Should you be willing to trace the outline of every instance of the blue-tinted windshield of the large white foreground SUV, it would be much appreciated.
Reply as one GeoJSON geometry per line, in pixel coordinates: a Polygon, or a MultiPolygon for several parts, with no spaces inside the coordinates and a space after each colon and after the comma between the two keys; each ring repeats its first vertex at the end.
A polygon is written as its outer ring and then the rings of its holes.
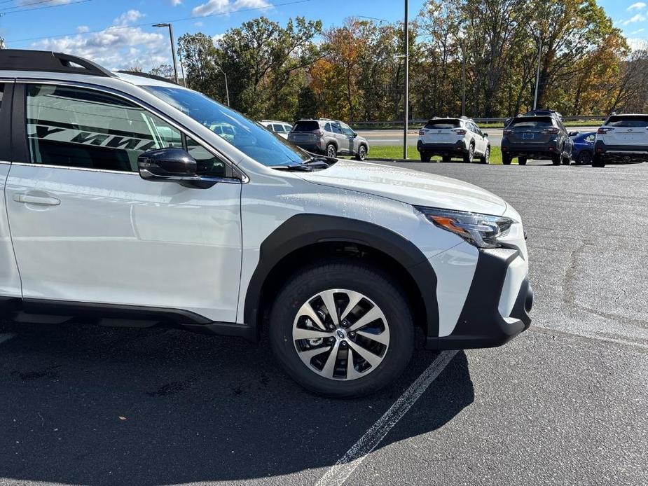
{"type": "Polygon", "coordinates": [[[172,86],[142,86],[156,97],[179,109],[209,130],[218,134],[228,144],[268,167],[297,165],[310,155],[301,148],[268,132],[263,126],[245,118],[198,92],[172,86]]]}

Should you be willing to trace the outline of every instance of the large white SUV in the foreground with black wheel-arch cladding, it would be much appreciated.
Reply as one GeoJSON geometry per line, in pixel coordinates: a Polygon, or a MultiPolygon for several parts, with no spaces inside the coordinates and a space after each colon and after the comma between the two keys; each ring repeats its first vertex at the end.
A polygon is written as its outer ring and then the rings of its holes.
{"type": "Polygon", "coordinates": [[[291,377],[336,397],[398,377],[417,326],[460,349],[530,325],[524,231],[502,199],[309,155],[170,82],[1,50],[0,161],[7,312],[263,329],[291,377]]]}

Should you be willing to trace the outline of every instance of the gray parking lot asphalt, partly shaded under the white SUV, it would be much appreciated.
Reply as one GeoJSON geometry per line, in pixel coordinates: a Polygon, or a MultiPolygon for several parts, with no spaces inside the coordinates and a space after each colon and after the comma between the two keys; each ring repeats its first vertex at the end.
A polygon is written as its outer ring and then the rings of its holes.
{"type": "Polygon", "coordinates": [[[518,209],[529,331],[457,352],[415,401],[399,397],[444,356],[420,346],[388,389],[335,401],[265,341],[5,321],[0,485],[647,484],[648,165],[394,165],[518,209]],[[373,450],[337,464],[399,403],[373,450]]]}

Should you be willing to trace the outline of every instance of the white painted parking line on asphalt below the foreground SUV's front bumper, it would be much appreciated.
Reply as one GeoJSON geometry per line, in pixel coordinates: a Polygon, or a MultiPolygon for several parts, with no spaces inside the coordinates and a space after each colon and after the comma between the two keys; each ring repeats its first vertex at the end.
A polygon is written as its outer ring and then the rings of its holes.
{"type": "Polygon", "coordinates": [[[336,464],[333,464],[329,471],[317,481],[316,486],[341,485],[349,478],[356,468],[364,461],[364,458],[375,449],[380,440],[385,438],[387,433],[403,418],[407,411],[416,403],[420,396],[427,390],[430,384],[436,380],[448,363],[457,354],[457,351],[443,351],[439,354],[430,366],[413,382],[404,393],[399,396],[394,405],[385,412],[375,424],[371,426],[364,436],[359,438],[347,453],[340,457],[336,464]]]}

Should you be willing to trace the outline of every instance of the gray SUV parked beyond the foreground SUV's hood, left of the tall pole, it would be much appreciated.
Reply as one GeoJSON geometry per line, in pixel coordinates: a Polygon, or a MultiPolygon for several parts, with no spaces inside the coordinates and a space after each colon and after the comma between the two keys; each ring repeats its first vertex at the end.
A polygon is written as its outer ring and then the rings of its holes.
{"type": "Polygon", "coordinates": [[[329,118],[299,120],[288,134],[288,141],[305,151],[333,158],[354,155],[357,160],[364,160],[369,152],[365,138],[359,137],[349,125],[329,118]]]}

